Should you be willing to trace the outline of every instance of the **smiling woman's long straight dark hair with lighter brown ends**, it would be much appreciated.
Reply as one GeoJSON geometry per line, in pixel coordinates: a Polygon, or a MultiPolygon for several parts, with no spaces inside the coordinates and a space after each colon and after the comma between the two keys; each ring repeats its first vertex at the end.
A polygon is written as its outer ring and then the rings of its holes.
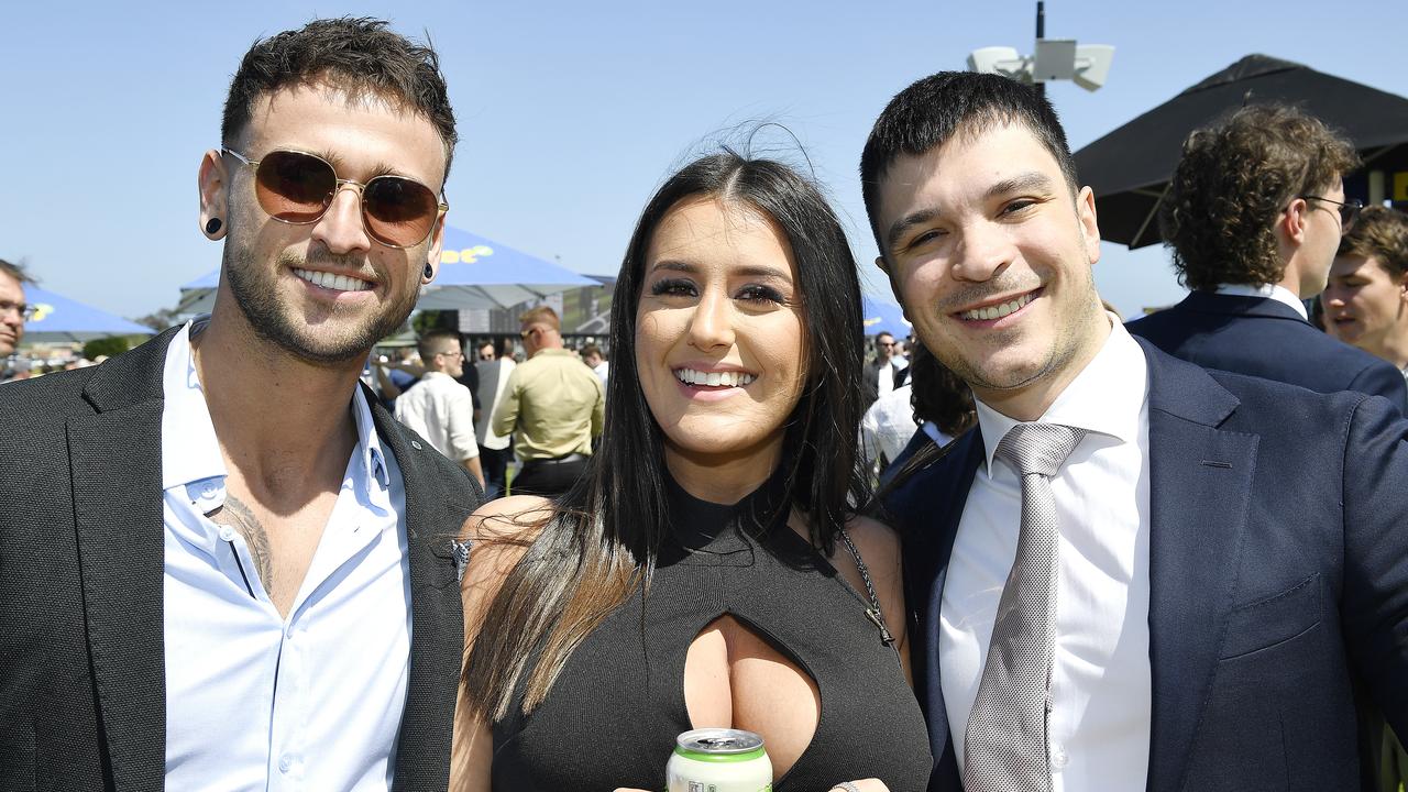
{"type": "Polygon", "coordinates": [[[784,503],[805,514],[812,544],[828,555],[836,531],[869,505],[857,466],[860,283],[841,223],[817,186],[787,165],[731,151],[691,162],[655,193],[631,237],[611,302],[605,431],[479,624],[463,672],[470,716],[503,719],[525,671],[522,712],[532,712],[583,638],[655,571],[670,524],[667,474],[636,372],[636,307],[656,227],[694,197],[772,217],[797,262],[808,366],[783,441],[784,503]]]}

